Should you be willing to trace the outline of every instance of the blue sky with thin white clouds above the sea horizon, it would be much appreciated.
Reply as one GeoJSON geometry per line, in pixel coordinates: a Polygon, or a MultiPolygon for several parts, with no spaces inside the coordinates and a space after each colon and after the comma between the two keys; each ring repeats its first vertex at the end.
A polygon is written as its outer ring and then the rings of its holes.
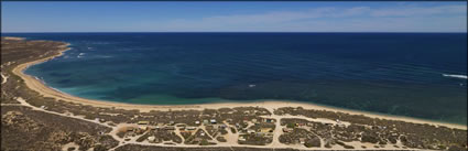
{"type": "Polygon", "coordinates": [[[467,2],[1,2],[7,32],[467,32],[467,2]]]}

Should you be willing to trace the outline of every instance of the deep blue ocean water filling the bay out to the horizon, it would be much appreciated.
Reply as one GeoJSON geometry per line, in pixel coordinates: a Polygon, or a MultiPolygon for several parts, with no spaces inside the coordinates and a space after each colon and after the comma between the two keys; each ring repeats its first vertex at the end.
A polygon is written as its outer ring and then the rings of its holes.
{"type": "Polygon", "coordinates": [[[72,43],[26,74],[75,96],[294,100],[467,123],[466,33],[22,33],[72,43]],[[445,76],[444,76],[445,74],[445,76]]]}

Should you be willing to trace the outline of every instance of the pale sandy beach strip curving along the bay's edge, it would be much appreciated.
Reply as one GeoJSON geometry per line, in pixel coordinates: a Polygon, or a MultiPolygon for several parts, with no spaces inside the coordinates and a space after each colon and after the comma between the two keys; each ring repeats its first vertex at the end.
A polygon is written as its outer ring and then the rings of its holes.
{"type": "Polygon", "coordinates": [[[363,115],[366,117],[370,118],[379,118],[379,119],[388,119],[388,120],[399,120],[399,121],[405,121],[405,122],[413,122],[413,123],[428,123],[434,126],[444,126],[448,128],[456,128],[456,129],[462,129],[467,130],[467,126],[458,125],[458,123],[448,123],[448,122],[442,122],[442,121],[432,121],[426,119],[418,119],[418,118],[412,118],[412,117],[403,117],[403,116],[393,116],[393,115],[385,115],[380,112],[370,112],[370,111],[361,111],[361,110],[353,110],[353,109],[345,109],[345,108],[338,108],[338,107],[330,107],[330,106],[324,106],[324,105],[317,105],[317,104],[307,104],[307,103],[297,103],[297,101],[284,101],[284,100],[270,100],[266,99],[264,101],[253,101],[253,103],[209,103],[209,104],[194,104],[194,105],[141,105],[141,104],[127,104],[127,103],[116,103],[116,101],[108,101],[108,100],[95,100],[95,99],[85,99],[76,96],[72,96],[69,94],[65,94],[62,91],[58,91],[52,87],[48,87],[44,85],[41,80],[37,80],[34,78],[34,76],[24,74],[23,72],[32,66],[36,65],[43,62],[47,62],[50,60],[53,60],[55,57],[62,56],[64,52],[70,50],[69,43],[66,43],[62,46],[59,46],[58,54],[52,55],[45,58],[35,60],[31,62],[26,62],[23,64],[20,64],[15,66],[12,69],[12,73],[18,75],[24,80],[24,84],[31,88],[34,91],[40,93],[44,97],[52,97],[55,99],[62,99],[64,101],[69,103],[77,103],[81,105],[90,105],[94,107],[105,107],[105,108],[118,108],[118,109],[127,109],[127,110],[134,110],[138,109],[142,112],[148,112],[150,110],[203,110],[205,108],[209,109],[219,109],[219,108],[232,108],[232,107],[262,107],[266,108],[268,110],[272,111],[276,108],[281,107],[303,107],[304,109],[315,109],[315,110],[327,110],[327,111],[339,111],[345,112],[349,115],[363,115]]]}

